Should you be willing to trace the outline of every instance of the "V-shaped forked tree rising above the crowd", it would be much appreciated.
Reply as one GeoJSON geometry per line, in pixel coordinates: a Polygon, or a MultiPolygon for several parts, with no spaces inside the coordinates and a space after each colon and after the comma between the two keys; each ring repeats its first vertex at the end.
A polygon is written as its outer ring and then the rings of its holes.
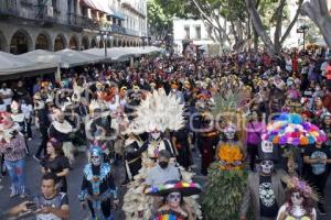
{"type": "MultiPolygon", "coordinates": [[[[286,4],[287,4],[286,0],[257,0],[257,1],[245,0],[245,1],[246,1],[247,10],[252,18],[254,30],[256,31],[257,35],[261,38],[263,43],[267,48],[267,52],[269,54],[278,54],[282,47],[285,40],[287,38],[295,23],[298,20],[303,0],[298,0],[296,14],[290,21],[289,26],[287,28],[287,30],[282,35],[281,33],[282,33],[282,24],[284,24],[284,14],[286,14],[285,12],[286,12],[286,4]],[[271,16],[271,21],[275,21],[275,28],[276,28],[274,42],[273,42],[266,31],[266,26],[263,23],[261,15],[259,14],[257,7],[259,3],[268,4],[268,3],[276,3],[276,2],[277,2],[277,8],[275,10],[275,13],[271,16]]],[[[269,25],[271,25],[271,23],[269,23],[269,25]]]]}

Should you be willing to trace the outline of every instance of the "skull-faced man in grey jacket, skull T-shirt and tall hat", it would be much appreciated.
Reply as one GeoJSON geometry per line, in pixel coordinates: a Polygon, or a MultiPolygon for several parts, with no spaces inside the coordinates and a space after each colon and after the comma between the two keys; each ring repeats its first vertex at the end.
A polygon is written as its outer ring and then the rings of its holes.
{"type": "Polygon", "coordinates": [[[285,201],[282,178],[285,174],[274,170],[276,148],[273,145],[263,145],[259,148],[258,173],[250,173],[247,179],[247,187],[242,201],[239,219],[247,220],[247,211],[252,206],[255,220],[274,220],[277,217],[278,208],[285,201]]]}

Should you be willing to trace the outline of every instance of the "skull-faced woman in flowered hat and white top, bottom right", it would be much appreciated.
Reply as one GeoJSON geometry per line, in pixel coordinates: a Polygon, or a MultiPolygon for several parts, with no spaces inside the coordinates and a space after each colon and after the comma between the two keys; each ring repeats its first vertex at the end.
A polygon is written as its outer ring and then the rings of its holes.
{"type": "Polygon", "coordinates": [[[318,196],[312,188],[298,177],[287,180],[287,199],[278,210],[277,220],[316,220],[317,213],[313,208],[313,200],[318,196]]]}

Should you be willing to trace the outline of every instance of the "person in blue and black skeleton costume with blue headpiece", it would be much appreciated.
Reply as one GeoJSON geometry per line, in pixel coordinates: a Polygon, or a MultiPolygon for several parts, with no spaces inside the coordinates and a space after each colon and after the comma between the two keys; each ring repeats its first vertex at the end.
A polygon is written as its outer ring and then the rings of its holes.
{"type": "Polygon", "coordinates": [[[84,167],[84,177],[79,194],[83,208],[90,210],[92,220],[111,219],[111,195],[114,204],[118,204],[117,188],[111,175],[111,167],[103,163],[103,150],[93,146],[89,150],[90,163],[84,167]]]}

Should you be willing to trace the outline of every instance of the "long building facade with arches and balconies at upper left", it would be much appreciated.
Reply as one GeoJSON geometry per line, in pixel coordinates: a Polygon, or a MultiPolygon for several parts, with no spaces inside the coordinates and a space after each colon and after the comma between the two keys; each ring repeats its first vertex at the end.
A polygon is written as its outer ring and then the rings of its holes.
{"type": "Polygon", "coordinates": [[[0,1],[0,51],[12,54],[140,46],[145,36],[146,0],[0,1]]]}

